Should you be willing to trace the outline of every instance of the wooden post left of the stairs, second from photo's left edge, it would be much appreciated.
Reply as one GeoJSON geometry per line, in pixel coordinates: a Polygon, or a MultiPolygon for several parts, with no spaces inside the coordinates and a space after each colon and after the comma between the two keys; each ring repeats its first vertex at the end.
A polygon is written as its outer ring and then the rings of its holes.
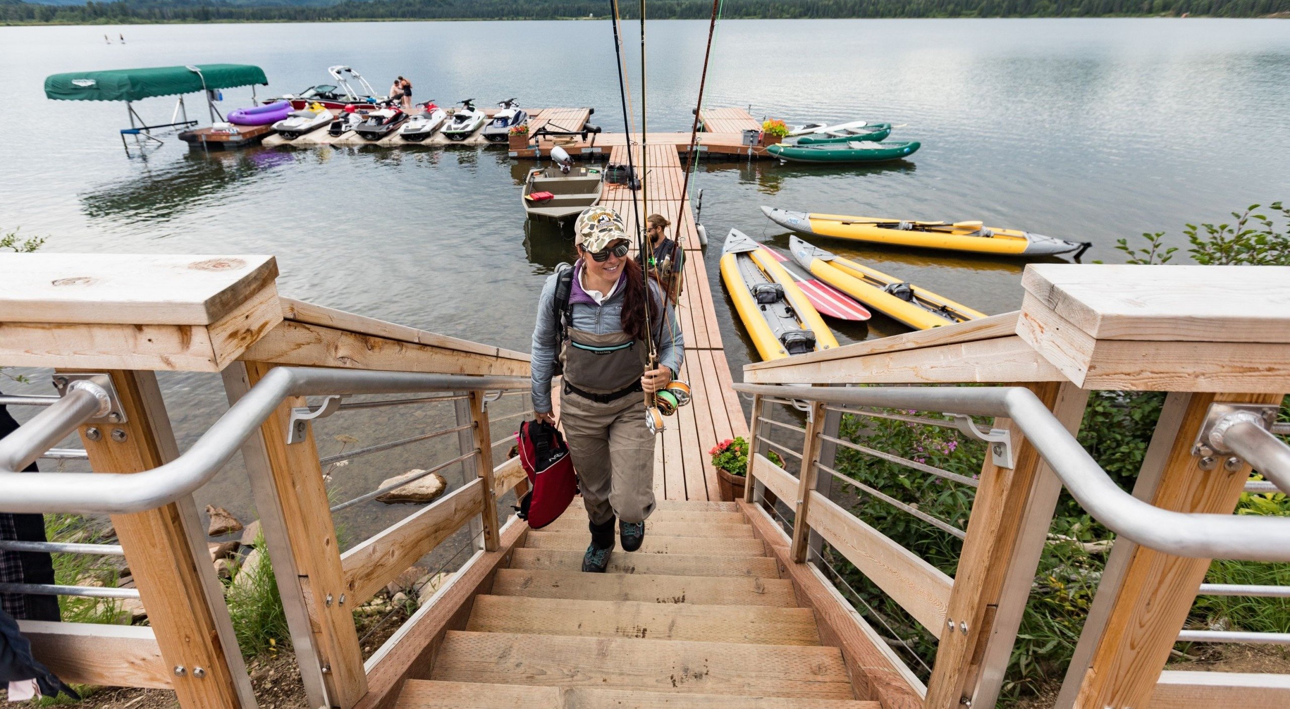
{"type": "MultiPolygon", "coordinates": [[[[246,362],[248,383],[254,387],[272,367],[266,362],[246,362]]],[[[295,557],[301,592],[308,607],[328,696],[333,706],[348,709],[368,692],[368,678],[351,612],[360,599],[350,602],[348,594],[353,589],[344,585],[335,525],[332,521],[312,425],[306,425],[303,441],[286,443],[292,409],[297,406],[304,406],[304,397],[284,401],[261,427],[261,434],[283,505],[281,513],[292,554],[295,557]]]]}

